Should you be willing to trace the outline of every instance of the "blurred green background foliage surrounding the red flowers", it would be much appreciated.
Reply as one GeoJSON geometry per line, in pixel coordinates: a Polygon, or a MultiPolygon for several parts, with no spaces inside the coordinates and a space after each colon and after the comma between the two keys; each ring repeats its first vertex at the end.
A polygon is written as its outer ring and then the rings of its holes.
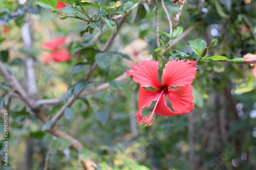
{"type": "MultiPolygon", "coordinates": [[[[152,1],[62,2],[69,5],[60,11],[55,0],[0,2],[1,63],[34,104],[22,98],[1,69],[0,107],[9,113],[10,147],[9,166],[2,161],[1,169],[256,166],[256,79],[252,66],[234,63],[256,53],[256,2],[191,0],[179,6],[164,1],[172,32],[161,1],[156,1],[158,33],[152,1]],[[182,15],[175,21],[180,7],[182,15]],[[63,46],[71,60],[45,64],[49,52],[41,45],[57,37],[66,38],[63,46]],[[196,109],[157,116],[151,127],[137,127],[138,85],[122,75],[132,63],[152,56],[161,68],[170,59],[202,57],[193,83],[196,109]],[[26,74],[28,59],[35,84],[26,74]],[[63,117],[53,119],[71,96],[74,103],[62,110],[63,117]],[[55,124],[65,134],[52,130],[55,124]]],[[[3,142],[0,148],[3,155],[3,142]]]]}

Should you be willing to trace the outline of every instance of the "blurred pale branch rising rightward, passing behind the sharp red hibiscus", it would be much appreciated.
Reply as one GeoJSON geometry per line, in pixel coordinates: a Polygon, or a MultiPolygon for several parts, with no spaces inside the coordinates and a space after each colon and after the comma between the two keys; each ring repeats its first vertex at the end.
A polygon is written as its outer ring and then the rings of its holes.
{"type": "MultiPolygon", "coordinates": [[[[187,30],[185,30],[179,37],[174,39],[173,43],[167,45],[167,47],[165,49],[163,49],[162,52],[165,53],[165,52],[169,51],[170,48],[172,48],[175,44],[180,42],[183,38],[185,38],[189,33],[194,31],[200,25],[201,25],[201,22],[196,23],[194,26],[192,26],[192,27],[188,28],[187,30]]],[[[146,60],[152,60],[152,59],[153,59],[153,57],[151,55],[146,60]]],[[[116,81],[123,81],[126,78],[125,75],[126,75],[126,71],[121,76],[116,78],[115,80],[116,81]]],[[[110,87],[110,84],[109,83],[104,83],[104,84],[102,84],[102,85],[100,85],[100,86],[98,86],[98,87],[96,87],[94,89],[90,89],[90,90],[86,90],[86,91],[81,92],[78,95],[78,98],[81,98],[83,96],[99,92],[99,91],[104,90],[104,89],[106,89],[108,87],[110,87]]],[[[61,101],[60,99],[42,99],[42,100],[38,100],[36,102],[36,105],[37,106],[39,106],[39,105],[58,105],[58,104],[61,104],[61,103],[63,103],[63,101],[61,101]]]]}

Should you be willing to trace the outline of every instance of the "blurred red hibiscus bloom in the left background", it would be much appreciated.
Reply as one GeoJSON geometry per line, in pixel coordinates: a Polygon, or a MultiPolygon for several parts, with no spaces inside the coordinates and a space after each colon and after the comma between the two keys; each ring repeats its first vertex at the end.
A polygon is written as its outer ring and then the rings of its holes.
{"type": "Polygon", "coordinates": [[[49,56],[44,60],[48,64],[51,60],[55,62],[65,62],[70,60],[70,54],[66,48],[60,48],[65,43],[65,38],[55,38],[42,44],[42,48],[51,50],[49,56]]]}

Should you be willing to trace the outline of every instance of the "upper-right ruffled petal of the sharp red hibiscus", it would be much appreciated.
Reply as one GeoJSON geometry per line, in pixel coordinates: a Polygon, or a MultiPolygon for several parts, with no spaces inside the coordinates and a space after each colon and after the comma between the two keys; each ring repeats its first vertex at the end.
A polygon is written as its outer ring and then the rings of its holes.
{"type": "Polygon", "coordinates": [[[178,87],[191,84],[197,74],[196,61],[172,60],[165,64],[162,84],[166,87],[178,87]]]}

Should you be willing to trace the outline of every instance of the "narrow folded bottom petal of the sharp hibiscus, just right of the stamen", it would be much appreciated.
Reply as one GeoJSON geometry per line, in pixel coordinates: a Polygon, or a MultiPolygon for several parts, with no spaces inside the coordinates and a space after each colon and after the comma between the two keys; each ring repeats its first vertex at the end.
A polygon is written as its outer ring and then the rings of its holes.
{"type": "Polygon", "coordinates": [[[163,115],[163,116],[175,116],[179,115],[179,113],[175,113],[166,105],[166,94],[163,94],[161,98],[159,99],[159,102],[156,106],[155,112],[157,115],[163,115]]]}

